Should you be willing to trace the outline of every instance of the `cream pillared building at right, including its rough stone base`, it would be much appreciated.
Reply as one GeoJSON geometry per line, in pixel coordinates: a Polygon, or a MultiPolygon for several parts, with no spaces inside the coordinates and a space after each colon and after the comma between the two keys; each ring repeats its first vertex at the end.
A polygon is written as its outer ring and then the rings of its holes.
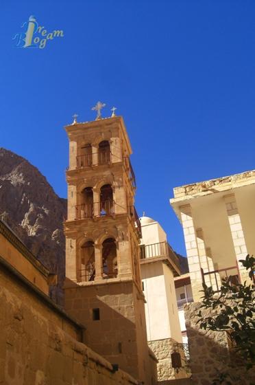
{"type": "MultiPolygon", "coordinates": [[[[217,293],[226,276],[231,276],[233,285],[250,281],[240,260],[255,250],[254,192],[253,170],[174,188],[174,198],[170,199],[184,229],[195,301],[189,303],[184,298],[192,381],[197,385],[210,385],[218,375],[226,375],[229,384],[255,383],[254,371],[246,371],[245,362],[232,349],[228,333],[205,331],[197,323],[202,283],[217,293]]],[[[213,315],[213,311],[202,309],[202,314],[213,315]]]]}

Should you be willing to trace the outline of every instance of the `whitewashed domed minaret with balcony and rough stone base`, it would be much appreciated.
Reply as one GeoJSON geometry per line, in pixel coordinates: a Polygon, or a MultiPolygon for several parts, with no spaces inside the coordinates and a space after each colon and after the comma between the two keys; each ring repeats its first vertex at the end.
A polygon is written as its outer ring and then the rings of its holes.
{"type": "Polygon", "coordinates": [[[167,242],[160,223],[141,217],[141,276],[145,294],[145,316],[149,347],[158,359],[158,381],[186,377],[186,371],[175,371],[171,354],[182,351],[182,333],[178,318],[174,277],[180,276],[180,263],[167,242]]]}

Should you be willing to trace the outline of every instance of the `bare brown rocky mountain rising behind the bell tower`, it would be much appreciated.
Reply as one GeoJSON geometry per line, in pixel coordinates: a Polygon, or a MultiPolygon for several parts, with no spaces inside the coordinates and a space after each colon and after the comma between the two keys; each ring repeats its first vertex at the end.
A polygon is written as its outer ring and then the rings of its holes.
{"type": "Polygon", "coordinates": [[[58,286],[51,298],[62,305],[66,199],[56,195],[47,179],[26,159],[0,148],[0,218],[53,273],[58,286]]]}

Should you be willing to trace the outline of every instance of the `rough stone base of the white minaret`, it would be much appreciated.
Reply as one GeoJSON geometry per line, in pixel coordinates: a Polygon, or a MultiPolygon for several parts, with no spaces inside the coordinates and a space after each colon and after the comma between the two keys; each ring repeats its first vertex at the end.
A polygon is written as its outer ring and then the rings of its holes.
{"type": "Polygon", "coordinates": [[[148,341],[148,344],[158,359],[158,383],[161,384],[161,382],[166,380],[188,377],[184,351],[177,346],[177,342],[173,340],[173,338],[148,341]],[[176,371],[176,369],[172,367],[171,353],[174,351],[178,351],[182,358],[182,369],[179,371],[176,371]]]}

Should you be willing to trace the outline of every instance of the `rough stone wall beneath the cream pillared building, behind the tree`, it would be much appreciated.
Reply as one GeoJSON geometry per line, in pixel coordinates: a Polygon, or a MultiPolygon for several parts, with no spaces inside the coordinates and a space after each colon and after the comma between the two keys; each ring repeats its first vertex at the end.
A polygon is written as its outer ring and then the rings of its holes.
{"type": "MultiPolygon", "coordinates": [[[[197,324],[201,303],[191,303],[184,307],[186,332],[189,339],[192,384],[211,385],[219,373],[228,373],[228,384],[255,384],[255,373],[245,370],[243,362],[230,351],[226,332],[205,331],[197,324]]],[[[212,314],[202,311],[204,316],[212,314]]],[[[227,382],[223,382],[227,384],[227,382]]]]}

